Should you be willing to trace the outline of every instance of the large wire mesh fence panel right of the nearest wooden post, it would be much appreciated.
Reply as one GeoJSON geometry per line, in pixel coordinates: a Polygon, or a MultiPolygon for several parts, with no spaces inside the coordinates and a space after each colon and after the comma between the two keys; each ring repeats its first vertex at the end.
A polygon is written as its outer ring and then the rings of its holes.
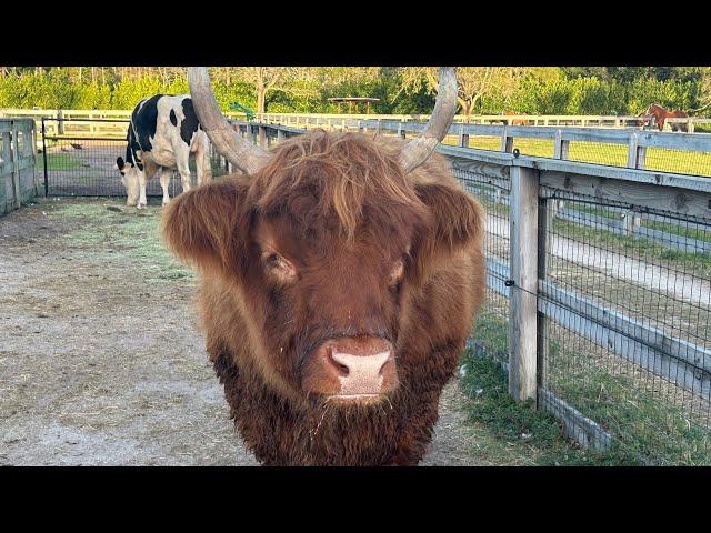
{"type": "Polygon", "coordinates": [[[541,188],[548,408],[650,464],[711,464],[711,220],[541,188]]]}

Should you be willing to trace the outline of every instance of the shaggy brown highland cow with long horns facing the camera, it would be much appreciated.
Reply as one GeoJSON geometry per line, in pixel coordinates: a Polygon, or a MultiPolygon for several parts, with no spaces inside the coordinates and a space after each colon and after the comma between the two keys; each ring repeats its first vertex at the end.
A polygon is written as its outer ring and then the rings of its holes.
{"type": "Polygon", "coordinates": [[[417,464],[485,282],[482,208],[432,155],[453,70],[415,141],[316,130],[269,152],[222,118],[207,69],[189,81],[244,173],[176,198],[163,232],[201,272],[207,350],[242,439],[269,465],[417,464]]]}

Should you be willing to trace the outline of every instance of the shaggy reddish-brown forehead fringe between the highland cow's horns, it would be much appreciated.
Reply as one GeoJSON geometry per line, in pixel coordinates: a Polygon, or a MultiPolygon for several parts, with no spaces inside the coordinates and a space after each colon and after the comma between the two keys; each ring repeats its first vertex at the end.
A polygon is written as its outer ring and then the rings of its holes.
{"type": "Polygon", "coordinates": [[[323,130],[289,139],[253,177],[248,203],[268,214],[288,212],[304,227],[336,214],[348,240],[365,218],[370,228],[424,223],[429,211],[397,161],[401,147],[394,139],[323,130]]]}

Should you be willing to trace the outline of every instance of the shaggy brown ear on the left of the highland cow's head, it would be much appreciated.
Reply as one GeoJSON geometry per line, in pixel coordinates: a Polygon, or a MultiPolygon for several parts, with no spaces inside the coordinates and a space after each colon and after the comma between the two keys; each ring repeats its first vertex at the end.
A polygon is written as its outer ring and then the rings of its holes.
{"type": "Polygon", "coordinates": [[[163,212],[168,248],[202,271],[236,273],[247,255],[244,193],[237,180],[226,179],[176,197],[163,212]]]}

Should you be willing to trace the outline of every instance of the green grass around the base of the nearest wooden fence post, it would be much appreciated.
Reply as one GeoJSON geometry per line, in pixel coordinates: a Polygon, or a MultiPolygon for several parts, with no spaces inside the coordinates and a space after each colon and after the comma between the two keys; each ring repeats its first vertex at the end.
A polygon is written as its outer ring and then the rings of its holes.
{"type": "Polygon", "coordinates": [[[552,414],[537,411],[532,401],[519,403],[509,396],[500,363],[508,358],[508,323],[488,310],[477,318],[475,349],[462,355],[460,386],[470,399],[465,410],[473,424],[505,443],[510,454],[525,453],[539,465],[711,464],[709,430],[673,399],[665,400],[659,383],[650,391],[648,381],[613,373],[600,366],[594,353],[564,349],[552,331],[547,386],[609,431],[612,446],[603,452],[581,450],[564,436],[552,414]]]}

